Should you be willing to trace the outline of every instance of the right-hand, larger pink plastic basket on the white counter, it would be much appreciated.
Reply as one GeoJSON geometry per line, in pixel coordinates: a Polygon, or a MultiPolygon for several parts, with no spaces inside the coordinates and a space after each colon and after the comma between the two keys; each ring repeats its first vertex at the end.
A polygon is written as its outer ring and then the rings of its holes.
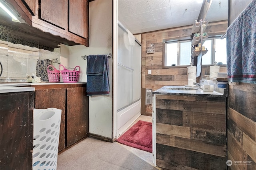
{"type": "Polygon", "coordinates": [[[76,67],[74,68],[74,70],[68,70],[62,64],[60,64],[60,66],[64,68],[64,70],[60,70],[63,82],[66,82],[66,83],[78,82],[79,75],[80,75],[80,66],[76,66],[79,68],[79,70],[76,70],[76,67]]]}

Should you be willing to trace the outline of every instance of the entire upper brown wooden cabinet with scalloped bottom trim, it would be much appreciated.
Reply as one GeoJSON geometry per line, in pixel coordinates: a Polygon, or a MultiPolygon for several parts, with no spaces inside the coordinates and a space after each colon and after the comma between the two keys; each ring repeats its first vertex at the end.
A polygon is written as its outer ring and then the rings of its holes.
{"type": "MultiPolygon", "coordinates": [[[[40,29],[40,37],[49,37],[65,45],[82,44],[89,47],[88,0],[8,0],[32,28],[40,29]]],[[[8,26],[8,25],[7,25],[8,26]]],[[[32,28],[26,31],[34,33],[32,28]]]]}

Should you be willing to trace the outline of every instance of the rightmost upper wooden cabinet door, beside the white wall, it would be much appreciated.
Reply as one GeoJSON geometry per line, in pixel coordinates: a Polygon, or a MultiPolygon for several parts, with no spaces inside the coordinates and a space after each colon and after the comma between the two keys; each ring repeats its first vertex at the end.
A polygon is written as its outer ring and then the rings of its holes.
{"type": "Polygon", "coordinates": [[[69,31],[88,38],[89,8],[87,0],[69,0],[69,31]]]}

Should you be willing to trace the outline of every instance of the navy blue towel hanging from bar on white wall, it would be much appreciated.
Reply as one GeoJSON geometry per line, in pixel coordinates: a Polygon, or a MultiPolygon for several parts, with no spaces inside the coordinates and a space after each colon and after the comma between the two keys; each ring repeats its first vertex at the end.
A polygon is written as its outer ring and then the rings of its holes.
{"type": "Polygon", "coordinates": [[[108,55],[87,56],[86,95],[109,94],[108,55]]]}

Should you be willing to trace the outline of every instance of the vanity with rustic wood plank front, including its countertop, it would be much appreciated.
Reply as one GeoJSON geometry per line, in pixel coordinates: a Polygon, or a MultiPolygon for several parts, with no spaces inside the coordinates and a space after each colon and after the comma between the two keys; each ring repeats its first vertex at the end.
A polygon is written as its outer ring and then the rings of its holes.
{"type": "Polygon", "coordinates": [[[172,170],[227,169],[227,90],[170,89],[164,86],[153,92],[155,166],[172,170]]]}

